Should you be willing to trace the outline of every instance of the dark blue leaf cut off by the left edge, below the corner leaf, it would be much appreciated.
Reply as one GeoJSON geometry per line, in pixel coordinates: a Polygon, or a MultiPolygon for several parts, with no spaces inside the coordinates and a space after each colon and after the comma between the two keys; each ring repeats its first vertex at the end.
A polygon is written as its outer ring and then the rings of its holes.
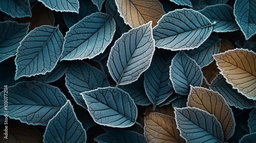
{"type": "Polygon", "coordinates": [[[17,53],[19,42],[28,34],[30,23],[0,22],[0,62],[17,53]]]}

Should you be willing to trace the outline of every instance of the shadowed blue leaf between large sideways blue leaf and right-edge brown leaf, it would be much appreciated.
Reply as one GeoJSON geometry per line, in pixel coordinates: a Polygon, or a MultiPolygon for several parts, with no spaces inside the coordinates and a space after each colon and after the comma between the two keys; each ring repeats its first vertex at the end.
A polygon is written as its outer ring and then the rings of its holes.
{"type": "Polygon", "coordinates": [[[197,64],[202,68],[214,61],[212,55],[219,53],[220,48],[217,46],[219,41],[220,40],[218,35],[212,33],[209,38],[204,41],[197,49],[184,52],[187,54],[188,57],[194,59],[197,64]]]}

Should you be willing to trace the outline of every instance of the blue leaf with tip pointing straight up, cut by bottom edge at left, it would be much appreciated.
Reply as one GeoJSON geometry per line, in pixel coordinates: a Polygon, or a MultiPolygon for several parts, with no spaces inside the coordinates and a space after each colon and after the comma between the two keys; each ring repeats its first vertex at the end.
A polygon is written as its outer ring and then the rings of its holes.
{"type": "Polygon", "coordinates": [[[78,121],[69,100],[49,121],[44,142],[86,142],[86,131],[78,121]]]}

